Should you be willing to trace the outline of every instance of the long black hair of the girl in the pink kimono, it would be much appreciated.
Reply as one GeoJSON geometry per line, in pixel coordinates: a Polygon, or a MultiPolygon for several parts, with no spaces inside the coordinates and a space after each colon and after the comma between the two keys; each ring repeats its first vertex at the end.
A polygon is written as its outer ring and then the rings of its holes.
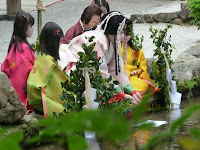
{"type": "Polygon", "coordinates": [[[20,42],[25,42],[28,45],[30,45],[26,39],[26,31],[29,25],[34,24],[34,18],[31,14],[26,13],[24,11],[19,11],[15,17],[14,21],[14,30],[13,34],[10,40],[10,44],[8,47],[8,53],[12,47],[13,44],[14,46],[14,52],[16,52],[16,49],[23,53],[22,45],[20,46],[20,42]]]}

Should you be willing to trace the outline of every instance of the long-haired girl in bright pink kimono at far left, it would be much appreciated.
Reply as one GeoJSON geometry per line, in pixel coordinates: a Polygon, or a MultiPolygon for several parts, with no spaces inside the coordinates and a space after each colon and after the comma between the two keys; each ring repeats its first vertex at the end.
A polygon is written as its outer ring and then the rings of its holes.
{"type": "Polygon", "coordinates": [[[27,99],[27,79],[35,62],[35,54],[27,38],[33,34],[34,18],[20,11],[15,18],[14,31],[8,48],[8,55],[1,65],[20,101],[27,107],[26,114],[33,110],[27,99]]]}

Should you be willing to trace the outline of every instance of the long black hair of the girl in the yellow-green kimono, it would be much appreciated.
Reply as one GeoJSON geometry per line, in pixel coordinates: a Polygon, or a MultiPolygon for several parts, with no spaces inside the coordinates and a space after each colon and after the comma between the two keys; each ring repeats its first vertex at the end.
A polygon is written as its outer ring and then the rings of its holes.
{"type": "Polygon", "coordinates": [[[56,61],[59,57],[60,40],[63,38],[63,31],[61,27],[55,22],[48,22],[45,24],[40,35],[40,51],[41,54],[52,56],[56,61]]]}

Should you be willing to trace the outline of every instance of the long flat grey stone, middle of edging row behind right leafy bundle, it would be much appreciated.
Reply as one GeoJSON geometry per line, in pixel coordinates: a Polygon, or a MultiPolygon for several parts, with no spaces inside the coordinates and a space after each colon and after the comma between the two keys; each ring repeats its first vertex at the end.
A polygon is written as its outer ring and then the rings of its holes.
{"type": "Polygon", "coordinates": [[[159,14],[153,15],[153,19],[155,22],[169,23],[177,18],[178,18],[177,12],[175,12],[175,13],[159,13],[159,14]]]}

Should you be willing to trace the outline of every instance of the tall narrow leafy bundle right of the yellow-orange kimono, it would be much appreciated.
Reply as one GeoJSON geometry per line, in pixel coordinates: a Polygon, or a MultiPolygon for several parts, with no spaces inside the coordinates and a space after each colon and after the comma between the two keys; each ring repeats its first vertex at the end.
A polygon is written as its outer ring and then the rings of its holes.
{"type": "Polygon", "coordinates": [[[166,62],[164,59],[163,53],[165,53],[166,58],[169,62],[169,65],[173,63],[171,59],[172,45],[170,44],[171,35],[167,39],[167,31],[169,28],[172,28],[171,25],[168,25],[164,30],[153,29],[150,27],[149,31],[152,33],[151,38],[153,43],[156,46],[154,50],[154,55],[158,59],[157,61],[152,61],[152,71],[151,76],[155,82],[155,86],[159,86],[160,92],[155,93],[156,99],[159,100],[160,106],[169,106],[169,86],[166,80],[166,62]]]}

